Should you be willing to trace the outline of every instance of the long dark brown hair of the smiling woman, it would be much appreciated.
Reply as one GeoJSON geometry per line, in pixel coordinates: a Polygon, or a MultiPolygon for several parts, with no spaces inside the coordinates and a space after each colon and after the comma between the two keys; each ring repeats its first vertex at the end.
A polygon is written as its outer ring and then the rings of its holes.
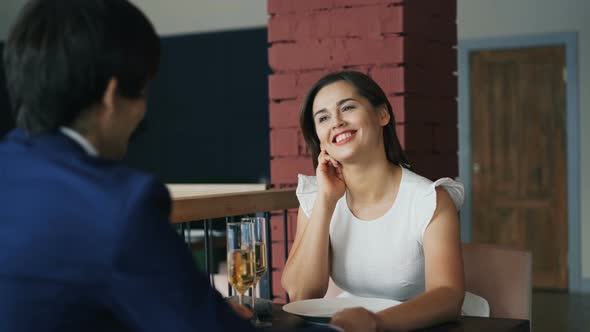
{"type": "Polygon", "coordinates": [[[371,77],[356,71],[341,71],[322,77],[311,87],[303,101],[303,106],[301,107],[301,112],[299,114],[299,122],[303,137],[307,143],[307,148],[311,153],[313,166],[318,166],[318,156],[320,154],[320,140],[315,130],[315,122],[313,121],[313,101],[322,88],[339,81],[345,81],[352,85],[358,94],[366,98],[373,107],[377,108],[382,105],[387,106],[390,120],[389,123],[383,127],[383,143],[385,145],[387,160],[396,165],[411,169],[408,158],[397,138],[393,109],[385,92],[383,92],[371,77]]]}

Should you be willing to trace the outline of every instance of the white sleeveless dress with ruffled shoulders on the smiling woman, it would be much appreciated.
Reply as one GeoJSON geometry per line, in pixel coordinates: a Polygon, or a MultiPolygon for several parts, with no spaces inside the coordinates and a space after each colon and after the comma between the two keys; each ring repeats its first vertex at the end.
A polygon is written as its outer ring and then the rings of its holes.
{"type": "MultiPolygon", "coordinates": [[[[464,197],[461,183],[449,178],[432,182],[405,168],[395,202],[377,219],[360,220],[348,208],[346,195],[338,200],[330,222],[331,277],[345,295],[404,301],[424,293],[422,239],[436,210],[438,186],[459,210],[464,197]]],[[[317,195],[316,177],[299,175],[296,193],[309,217],[317,195]]],[[[467,293],[463,312],[488,316],[489,306],[467,293]]]]}

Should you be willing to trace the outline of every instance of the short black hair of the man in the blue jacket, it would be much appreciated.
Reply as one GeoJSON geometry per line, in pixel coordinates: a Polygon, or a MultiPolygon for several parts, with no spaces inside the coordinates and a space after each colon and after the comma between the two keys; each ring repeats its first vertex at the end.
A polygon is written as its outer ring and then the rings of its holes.
{"type": "Polygon", "coordinates": [[[32,0],[6,40],[6,83],[18,127],[42,134],[69,125],[117,94],[141,96],[160,61],[160,41],[127,0],[32,0]]]}

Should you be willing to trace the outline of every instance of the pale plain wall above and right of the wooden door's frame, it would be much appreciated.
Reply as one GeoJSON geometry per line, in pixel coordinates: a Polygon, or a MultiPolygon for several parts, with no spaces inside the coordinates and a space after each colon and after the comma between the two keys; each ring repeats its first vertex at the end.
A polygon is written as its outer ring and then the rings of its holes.
{"type": "Polygon", "coordinates": [[[578,32],[582,275],[590,278],[590,1],[457,0],[459,39],[578,32]]]}

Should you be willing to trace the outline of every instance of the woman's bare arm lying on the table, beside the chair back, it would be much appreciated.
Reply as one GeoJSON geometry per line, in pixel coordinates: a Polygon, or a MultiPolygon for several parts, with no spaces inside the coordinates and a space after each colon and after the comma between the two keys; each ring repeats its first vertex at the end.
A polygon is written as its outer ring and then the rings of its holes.
{"type": "Polygon", "coordinates": [[[346,330],[347,324],[364,318],[365,326],[376,326],[374,331],[408,331],[459,318],[465,281],[457,209],[444,189],[437,188],[436,192],[437,208],[423,239],[424,294],[376,315],[345,310],[333,317],[333,324],[346,330]]]}

